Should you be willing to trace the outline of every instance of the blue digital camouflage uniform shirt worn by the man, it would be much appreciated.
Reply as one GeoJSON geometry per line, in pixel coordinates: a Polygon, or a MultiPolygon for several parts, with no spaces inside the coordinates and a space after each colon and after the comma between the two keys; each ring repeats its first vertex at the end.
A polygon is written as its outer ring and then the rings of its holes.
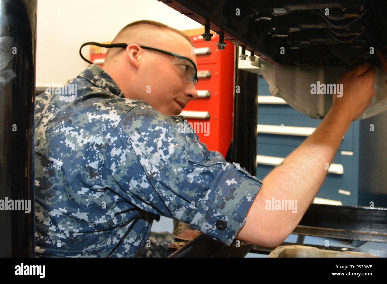
{"type": "Polygon", "coordinates": [[[99,66],[69,84],[77,95],[36,97],[37,257],[133,257],[159,215],[232,243],[261,180],[99,66]]]}

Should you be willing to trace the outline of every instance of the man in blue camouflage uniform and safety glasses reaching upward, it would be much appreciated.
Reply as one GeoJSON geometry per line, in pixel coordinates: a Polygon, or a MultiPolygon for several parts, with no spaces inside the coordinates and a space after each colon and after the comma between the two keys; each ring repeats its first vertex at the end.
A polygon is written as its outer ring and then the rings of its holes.
{"type": "Polygon", "coordinates": [[[37,256],[135,256],[161,214],[226,245],[236,238],[275,247],[373,95],[373,68],[345,73],[343,95],[319,127],[261,181],[181,131],[178,114],[197,98],[187,36],[139,21],[113,43],[128,46],[109,49],[103,69],[90,65],[70,81],[77,96],[36,99],[37,256]],[[265,210],[272,198],[297,200],[297,212],[265,210]]]}

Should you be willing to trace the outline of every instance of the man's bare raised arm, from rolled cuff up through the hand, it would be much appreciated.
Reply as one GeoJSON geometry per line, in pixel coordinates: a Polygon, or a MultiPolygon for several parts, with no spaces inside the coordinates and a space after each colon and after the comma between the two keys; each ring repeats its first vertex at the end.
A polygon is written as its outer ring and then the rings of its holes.
{"type": "Polygon", "coordinates": [[[368,64],[357,66],[337,81],[342,97],[333,97],[333,105],[320,125],[282,165],[262,181],[262,187],[236,238],[258,245],[281,244],[300,222],[327,174],[336,151],[351,121],[370,105],[375,70],[368,64]],[[268,202],[290,199],[296,210],[266,210],[268,202]]]}

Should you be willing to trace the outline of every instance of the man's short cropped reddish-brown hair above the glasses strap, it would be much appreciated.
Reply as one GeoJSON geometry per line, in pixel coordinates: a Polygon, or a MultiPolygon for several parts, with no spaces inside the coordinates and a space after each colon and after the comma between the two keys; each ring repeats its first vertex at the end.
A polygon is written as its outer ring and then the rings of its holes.
{"type": "MultiPolygon", "coordinates": [[[[159,29],[159,30],[166,29],[166,30],[176,32],[177,34],[180,34],[181,36],[185,37],[185,39],[187,39],[187,41],[192,46],[194,46],[190,38],[182,31],[179,31],[178,29],[174,29],[173,27],[167,26],[166,24],[156,22],[156,21],[151,21],[151,20],[139,20],[139,21],[127,24],[125,27],[121,29],[121,31],[118,32],[118,34],[116,35],[116,37],[113,39],[111,43],[127,43],[127,44],[137,43],[141,45],[149,45],[149,43],[147,43],[148,42],[147,34],[144,31],[151,31],[155,29],[159,29]]],[[[105,62],[108,62],[109,60],[111,60],[120,51],[123,51],[123,49],[119,49],[119,48],[108,49],[105,62]]]]}

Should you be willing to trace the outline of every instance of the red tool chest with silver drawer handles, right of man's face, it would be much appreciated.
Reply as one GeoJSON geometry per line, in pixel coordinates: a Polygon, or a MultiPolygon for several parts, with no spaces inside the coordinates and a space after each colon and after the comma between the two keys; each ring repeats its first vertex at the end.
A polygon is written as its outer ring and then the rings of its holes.
{"type": "Polygon", "coordinates": [[[201,128],[196,128],[200,141],[209,150],[219,151],[226,156],[233,136],[235,47],[233,43],[224,41],[226,48],[217,49],[218,35],[212,36],[211,41],[203,41],[200,35],[190,36],[190,39],[195,47],[199,78],[195,87],[199,97],[188,102],[182,115],[188,122],[208,122],[208,133],[200,133],[203,132],[201,128]],[[195,111],[204,112],[203,117],[209,118],[194,118],[195,111]]]}

